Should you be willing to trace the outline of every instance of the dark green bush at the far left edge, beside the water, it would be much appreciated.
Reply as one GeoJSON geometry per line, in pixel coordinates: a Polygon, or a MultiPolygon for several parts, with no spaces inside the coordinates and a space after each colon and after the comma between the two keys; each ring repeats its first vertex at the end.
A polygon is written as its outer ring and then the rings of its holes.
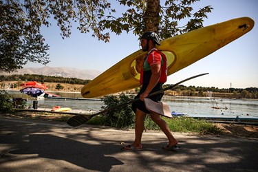
{"type": "Polygon", "coordinates": [[[10,112],[12,111],[12,100],[10,94],[4,90],[0,90],[0,111],[10,112]]]}

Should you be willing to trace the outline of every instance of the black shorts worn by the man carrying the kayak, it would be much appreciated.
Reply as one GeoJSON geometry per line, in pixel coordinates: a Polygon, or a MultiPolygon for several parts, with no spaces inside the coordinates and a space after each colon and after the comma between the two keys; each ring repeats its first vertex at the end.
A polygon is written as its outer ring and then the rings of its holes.
{"type": "MultiPolygon", "coordinates": [[[[146,86],[146,87],[142,86],[142,88],[140,89],[140,92],[137,94],[137,96],[136,96],[134,99],[139,98],[140,95],[145,91],[146,88],[147,88],[147,86],[146,86]]],[[[161,83],[158,83],[158,84],[152,89],[152,91],[150,92],[150,94],[153,93],[153,92],[158,92],[158,91],[160,91],[161,89],[162,89],[162,84],[161,84],[161,83]]],[[[150,96],[150,97],[148,97],[148,98],[150,98],[151,100],[153,100],[153,101],[155,101],[155,102],[159,102],[159,101],[162,99],[162,96],[163,96],[163,95],[164,95],[164,92],[162,92],[162,93],[160,93],[160,94],[156,94],[156,95],[154,95],[154,96],[150,96]]],[[[133,103],[132,103],[132,109],[133,109],[134,113],[136,113],[136,109],[139,109],[139,110],[141,110],[141,111],[144,111],[144,112],[147,113],[147,114],[150,114],[150,113],[151,113],[150,111],[148,111],[148,110],[146,109],[145,104],[144,104],[144,101],[142,101],[142,100],[137,100],[137,101],[133,102],[133,103]]]]}

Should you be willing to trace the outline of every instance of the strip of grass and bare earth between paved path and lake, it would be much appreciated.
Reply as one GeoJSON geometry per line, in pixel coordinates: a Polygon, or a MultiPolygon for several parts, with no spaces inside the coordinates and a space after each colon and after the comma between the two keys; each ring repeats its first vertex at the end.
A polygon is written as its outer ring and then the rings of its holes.
{"type": "MultiPolygon", "coordinates": [[[[55,114],[47,112],[29,112],[29,111],[14,111],[10,114],[1,114],[0,116],[8,116],[12,118],[30,118],[37,120],[55,120],[66,122],[72,115],[67,114],[55,114]]],[[[235,124],[222,124],[211,123],[205,120],[197,120],[194,118],[180,117],[180,118],[164,118],[169,125],[172,132],[182,133],[195,133],[195,134],[213,134],[215,136],[237,136],[244,138],[258,138],[258,126],[252,125],[235,125],[235,124]]],[[[95,116],[89,120],[88,125],[103,125],[104,119],[102,116],[95,116]]],[[[147,118],[144,122],[144,126],[147,130],[160,131],[157,125],[147,118]]],[[[133,125],[126,129],[133,129],[133,125]]]]}

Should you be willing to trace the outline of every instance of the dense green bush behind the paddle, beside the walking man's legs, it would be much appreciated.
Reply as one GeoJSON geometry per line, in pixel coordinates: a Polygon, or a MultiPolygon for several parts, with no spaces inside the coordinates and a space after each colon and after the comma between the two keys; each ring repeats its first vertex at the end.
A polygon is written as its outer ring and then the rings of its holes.
{"type": "Polygon", "coordinates": [[[135,115],[131,109],[131,104],[125,105],[124,107],[116,108],[116,106],[122,103],[127,103],[132,100],[133,96],[126,96],[125,94],[120,94],[116,96],[105,96],[102,98],[104,106],[102,109],[111,109],[111,111],[103,114],[103,124],[111,127],[116,127],[118,129],[127,129],[132,127],[134,124],[135,115]]]}

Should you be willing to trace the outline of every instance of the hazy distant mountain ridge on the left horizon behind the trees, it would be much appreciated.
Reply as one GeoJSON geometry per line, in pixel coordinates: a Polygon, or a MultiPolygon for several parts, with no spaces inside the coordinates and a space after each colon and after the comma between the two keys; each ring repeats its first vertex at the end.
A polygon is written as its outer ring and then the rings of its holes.
{"type": "Polygon", "coordinates": [[[79,79],[94,79],[102,72],[97,70],[76,69],[72,67],[25,67],[18,69],[17,72],[6,73],[2,72],[1,75],[13,74],[39,74],[45,76],[61,76],[65,78],[79,78],[79,79]]]}

